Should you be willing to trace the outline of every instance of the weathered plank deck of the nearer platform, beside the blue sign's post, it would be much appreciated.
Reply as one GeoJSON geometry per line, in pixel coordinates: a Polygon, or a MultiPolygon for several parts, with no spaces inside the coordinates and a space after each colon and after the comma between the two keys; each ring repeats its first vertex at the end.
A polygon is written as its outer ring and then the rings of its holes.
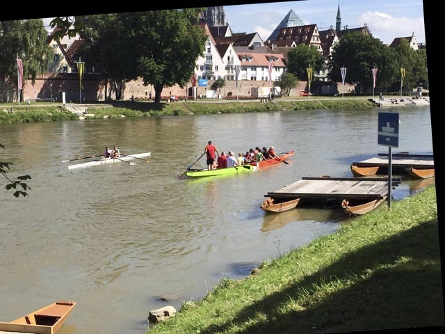
{"type": "MultiPolygon", "coordinates": [[[[392,178],[392,186],[401,182],[392,178]]],[[[277,191],[268,192],[270,198],[307,198],[312,200],[373,200],[384,198],[388,193],[387,177],[302,177],[300,181],[284,186],[277,191]]]]}

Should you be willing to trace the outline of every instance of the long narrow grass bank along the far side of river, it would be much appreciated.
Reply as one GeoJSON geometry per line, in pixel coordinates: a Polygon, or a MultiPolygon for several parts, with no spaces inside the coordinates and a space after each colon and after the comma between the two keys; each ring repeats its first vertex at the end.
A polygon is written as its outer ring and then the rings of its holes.
{"type": "MultiPolygon", "coordinates": [[[[150,117],[150,116],[186,116],[210,115],[213,113],[250,113],[281,110],[311,110],[311,109],[345,109],[369,108],[374,106],[369,100],[339,99],[339,100],[275,100],[274,102],[243,102],[243,101],[198,101],[198,102],[113,102],[111,104],[95,103],[73,104],[77,109],[87,109],[90,119],[150,117]]],[[[46,104],[41,102],[22,105],[0,105],[0,123],[14,122],[47,122],[56,120],[78,120],[77,113],[70,106],[63,104],[46,104]]]]}

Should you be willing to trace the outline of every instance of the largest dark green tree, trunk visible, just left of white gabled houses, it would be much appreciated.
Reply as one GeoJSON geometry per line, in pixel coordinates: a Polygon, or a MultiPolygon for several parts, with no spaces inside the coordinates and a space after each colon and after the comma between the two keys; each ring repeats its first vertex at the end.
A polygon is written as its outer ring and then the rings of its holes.
{"type": "Polygon", "coordinates": [[[207,35],[197,25],[204,8],[155,10],[121,15],[127,32],[127,49],[136,55],[133,77],[154,86],[154,102],[161,101],[165,86],[184,87],[191,79],[196,61],[205,50],[207,35]]]}

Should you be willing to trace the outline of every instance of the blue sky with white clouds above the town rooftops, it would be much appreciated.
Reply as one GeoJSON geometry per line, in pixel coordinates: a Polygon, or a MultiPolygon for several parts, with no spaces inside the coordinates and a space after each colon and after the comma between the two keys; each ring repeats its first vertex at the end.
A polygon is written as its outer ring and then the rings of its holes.
{"type": "Polygon", "coordinates": [[[291,9],[305,24],[317,24],[320,30],[335,28],[339,4],[342,26],[367,24],[373,37],[385,44],[413,32],[417,42],[426,43],[422,0],[284,1],[224,6],[224,12],[234,33],[257,32],[266,40],[291,9]]]}

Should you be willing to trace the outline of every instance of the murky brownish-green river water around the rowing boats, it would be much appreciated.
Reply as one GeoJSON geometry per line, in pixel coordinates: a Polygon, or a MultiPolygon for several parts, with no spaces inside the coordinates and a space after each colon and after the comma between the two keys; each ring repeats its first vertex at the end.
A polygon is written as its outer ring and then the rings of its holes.
{"type": "MultiPolygon", "coordinates": [[[[248,276],[261,262],[335,232],[352,219],[340,206],[266,214],[259,205],[268,191],[301,177],[353,177],[351,162],[387,153],[377,143],[379,111],[0,125],[1,161],[13,162],[8,176],[32,177],[27,198],[0,191],[0,321],[63,299],[77,305],[60,334],[143,334],[150,310],[179,310],[222,278],[248,276]],[[273,145],[296,154],[289,164],[254,173],[179,178],[209,140],[226,152],[273,145]],[[124,154],[152,152],[152,162],[73,170],[62,162],[102,154],[106,145],[124,154]]],[[[393,153],[431,154],[429,106],[397,111],[393,153]]],[[[204,164],[203,157],[194,167],[204,164]]],[[[403,179],[393,201],[431,182],[403,179]]]]}

